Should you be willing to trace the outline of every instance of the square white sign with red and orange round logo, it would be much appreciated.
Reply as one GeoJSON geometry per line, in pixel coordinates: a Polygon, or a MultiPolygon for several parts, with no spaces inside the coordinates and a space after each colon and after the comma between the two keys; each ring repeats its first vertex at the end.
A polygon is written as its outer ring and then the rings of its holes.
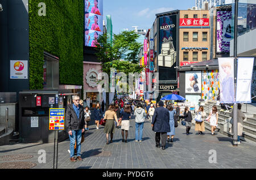
{"type": "Polygon", "coordinates": [[[27,61],[10,61],[10,79],[27,79],[28,63],[27,61]]]}

